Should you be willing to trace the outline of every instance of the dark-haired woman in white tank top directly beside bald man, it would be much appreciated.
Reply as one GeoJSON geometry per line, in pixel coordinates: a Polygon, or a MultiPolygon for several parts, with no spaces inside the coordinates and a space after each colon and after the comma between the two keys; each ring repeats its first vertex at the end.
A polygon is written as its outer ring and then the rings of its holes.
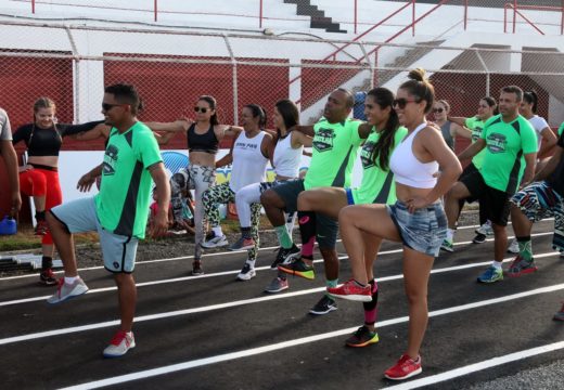
{"type": "MultiPolygon", "coordinates": [[[[272,116],[277,136],[271,144],[269,156],[274,168],[274,181],[262,180],[248,184],[236,192],[235,204],[241,224],[241,237],[230,247],[231,250],[253,249],[258,246],[253,236],[258,233],[252,231],[252,207],[260,207],[260,194],[280,182],[296,179],[299,176],[299,164],[304,146],[310,147],[312,139],[298,131],[289,131],[299,125],[299,110],[294,102],[281,100],[274,106],[272,116]]],[[[286,216],[287,217],[287,216],[286,216]]],[[[286,227],[292,234],[294,226],[293,216],[287,219],[286,227]]],[[[248,281],[255,276],[255,257],[249,256],[238,275],[241,281],[248,281]]]]}

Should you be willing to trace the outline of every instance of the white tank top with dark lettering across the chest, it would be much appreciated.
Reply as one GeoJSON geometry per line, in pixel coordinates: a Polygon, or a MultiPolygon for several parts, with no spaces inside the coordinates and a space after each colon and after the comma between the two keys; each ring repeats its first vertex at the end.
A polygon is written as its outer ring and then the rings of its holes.
{"type": "Polygon", "coordinates": [[[260,131],[253,138],[247,138],[241,132],[233,146],[233,165],[229,187],[238,192],[245,185],[265,181],[268,158],[262,156],[260,145],[266,132],[260,131]]]}

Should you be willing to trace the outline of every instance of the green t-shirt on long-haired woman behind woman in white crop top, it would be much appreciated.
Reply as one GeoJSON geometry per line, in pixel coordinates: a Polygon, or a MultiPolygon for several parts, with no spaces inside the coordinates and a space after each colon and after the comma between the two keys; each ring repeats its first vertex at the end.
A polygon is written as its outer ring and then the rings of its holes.
{"type": "MultiPolygon", "coordinates": [[[[394,134],[394,144],[388,154],[392,152],[408,134],[408,129],[400,127],[394,134]]],[[[394,181],[394,173],[388,169],[383,170],[377,162],[374,162],[372,152],[380,140],[381,133],[372,131],[367,141],[360,150],[360,161],[362,162],[362,182],[358,188],[352,188],[352,199],[355,205],[368,204],[388,204],[396,203],[396,182],[394,181]]],[[[377,161],[377,158],[376,158],[377,161]]]]}

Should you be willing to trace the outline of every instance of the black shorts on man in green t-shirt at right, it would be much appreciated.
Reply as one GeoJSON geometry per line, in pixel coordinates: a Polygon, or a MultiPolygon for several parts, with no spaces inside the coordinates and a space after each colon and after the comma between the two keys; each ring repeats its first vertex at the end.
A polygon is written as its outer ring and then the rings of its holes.
{"type": "Polygon", "coordinates": [[[470,192],[470,198],[478,199],[480,209],[495,224],[507,226],[510,213],[511,194],[490,187],[478,171],[461,178],[460,182],[470,192]]]}

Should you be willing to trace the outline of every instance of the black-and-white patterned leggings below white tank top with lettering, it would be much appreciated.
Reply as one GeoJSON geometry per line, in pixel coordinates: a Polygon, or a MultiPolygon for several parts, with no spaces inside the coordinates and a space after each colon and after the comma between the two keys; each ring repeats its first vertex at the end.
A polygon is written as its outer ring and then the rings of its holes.
{"type": "MultiPolygon", "coordinates": [[[[219,226],[219,205],[228,202],[235,202],[235,193],[229,187],[229,183],[222,183],[209,187],[202,195],[202,204],[207,220],[211,226],[219,226]]],[[[260,204],[254,203],[251,205],[251,236],[255,240],[255,246],[248,249],[248,259],[256,260],[259,246],[258,223],[260,222],[260,204]]]]}

